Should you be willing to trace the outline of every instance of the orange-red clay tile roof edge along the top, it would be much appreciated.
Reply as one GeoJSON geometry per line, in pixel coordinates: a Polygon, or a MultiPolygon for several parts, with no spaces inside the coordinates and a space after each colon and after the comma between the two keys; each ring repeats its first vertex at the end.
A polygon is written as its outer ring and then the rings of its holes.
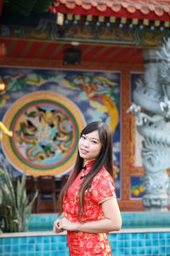
{"type": "Polygon", "coordinates": [[[142,15],[170,15],[170,0],[54,0],[50,10],[58,9],[60,5],[64,5],[66,9],[82,8],[87,11],[95,8],[101,15],[110,9],[114,13],[120,12],[122,9],[127,13],[133,14],[139,11],[142,15]]]}

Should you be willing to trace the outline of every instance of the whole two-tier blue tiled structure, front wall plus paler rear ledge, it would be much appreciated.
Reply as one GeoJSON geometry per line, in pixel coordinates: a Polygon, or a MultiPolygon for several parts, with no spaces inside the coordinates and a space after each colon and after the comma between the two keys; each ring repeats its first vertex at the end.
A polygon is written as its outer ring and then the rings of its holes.
{"type": "MultiPolygon", "coordinates": [[[[49,232],[56,218],[56,214],[32,215],[29,230],[41,232],[0,236],[0,256],[69,255],[66,236],[49,232]]],[[[122,230],[111,233],[109,240],[114,256],[170,256],[170,212],[122,212],[122,230]]]]}

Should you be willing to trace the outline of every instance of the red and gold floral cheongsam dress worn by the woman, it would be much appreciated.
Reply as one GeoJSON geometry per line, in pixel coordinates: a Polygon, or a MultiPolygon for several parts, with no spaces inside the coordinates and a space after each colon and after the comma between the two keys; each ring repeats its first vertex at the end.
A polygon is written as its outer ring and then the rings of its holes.
{"type": "MultiPolygon", "coordinates": [[[[94,161],[89,161],[87,169],[83,171],[88,174],[94,161]]],[[[63,202],[64,215],[72,222],[78,222],[78,190],[82,180],[80,172],[68,190],[68,194],[63,202]]],[[[84,213],[80,222],[98,221],[105,218],[101,202],[111,197],[116,197],[115,185],[109,172],[103,167],[94,177],[91,188],[85,192],[84,213]]],[[[111,256],[111,246],[106,233],[86,233],[80,231],[67,231],[67,241],[70,255],[83,256],[111,256]]]]}

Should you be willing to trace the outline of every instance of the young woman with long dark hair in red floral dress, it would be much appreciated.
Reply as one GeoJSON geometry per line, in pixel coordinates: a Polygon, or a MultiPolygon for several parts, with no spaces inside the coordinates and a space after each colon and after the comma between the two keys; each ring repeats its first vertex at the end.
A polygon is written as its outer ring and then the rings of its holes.
{"type": "Polygon", "coordinates": [[[57,234],[67,230],[70,255],[112,255],[107,238],[122,227],[113,181],[112,132],[102,122],[81,133],[74,170],[59,195],[57,234]]]}

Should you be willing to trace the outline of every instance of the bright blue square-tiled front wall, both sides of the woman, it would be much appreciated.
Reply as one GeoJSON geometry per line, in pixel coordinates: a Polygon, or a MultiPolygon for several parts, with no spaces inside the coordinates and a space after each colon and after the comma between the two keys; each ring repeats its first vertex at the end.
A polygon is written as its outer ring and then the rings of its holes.
{"type": "MultiPolygon", "coordinates": [[[[170,255],[170,232],[115,233],[109,236],[114,256],[170,255]]],[[[65,235],[0,238],[1,256],[67,256],[65,235]]]]}

